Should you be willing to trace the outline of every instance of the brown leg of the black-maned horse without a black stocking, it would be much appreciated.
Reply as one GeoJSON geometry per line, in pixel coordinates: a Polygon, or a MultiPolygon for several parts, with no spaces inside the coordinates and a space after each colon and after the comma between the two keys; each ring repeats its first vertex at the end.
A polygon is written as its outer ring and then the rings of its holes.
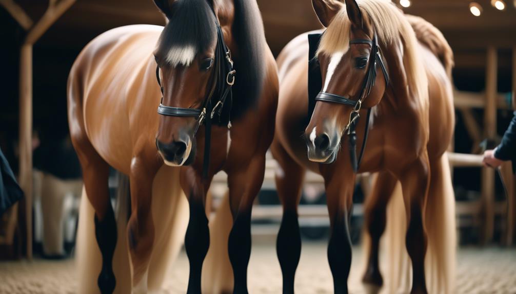
{"type": "Polygon", "coordinates": [[[131,161],[131,217],[127,223],[127,240],[132,264],[133,293],[148,291],[147,276],[154,244],[152,181],[159,165],[157,161],[144,156],[134,157],[131,161]]]}

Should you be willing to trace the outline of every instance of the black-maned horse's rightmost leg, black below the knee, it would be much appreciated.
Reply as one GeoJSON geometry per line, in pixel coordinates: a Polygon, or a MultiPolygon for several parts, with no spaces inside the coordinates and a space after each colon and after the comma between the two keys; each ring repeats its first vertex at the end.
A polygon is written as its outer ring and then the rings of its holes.
{"type": "MultiPolygon", "coordinates": [[[[243,165],[244,167],[245,165],[243,165]]],[[[233,293],[247,294],[247,265],[251,256],[251,210],[254,198],[262,187],[265,154],[256,155],[248,166],[228,174],[233,228],[228,240],[228,252],[233,267],[233,293]]]]}

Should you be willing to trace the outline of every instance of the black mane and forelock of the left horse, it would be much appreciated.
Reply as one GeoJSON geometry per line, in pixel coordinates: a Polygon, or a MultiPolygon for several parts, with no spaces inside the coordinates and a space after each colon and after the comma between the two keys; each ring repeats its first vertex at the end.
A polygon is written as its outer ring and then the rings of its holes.
{"type": "MultiPolygon", "coordinates": [[[[233,86],[231,118],[238,119],[257,105],[265,79],[266,48],[262,16],[256,0],[233,0],[235,17],[233,38],[238,52],[233,52],[236,80],[233,86]]],[[[176,0],[166,13],[165,26],[156,57],[166,59],[170,48],[192,46],[196,53],[207,51],[217,39],[216,19],[207,0],[176,0]]],[[[165,63],[166,60],[157,60],[165,63]]]]}

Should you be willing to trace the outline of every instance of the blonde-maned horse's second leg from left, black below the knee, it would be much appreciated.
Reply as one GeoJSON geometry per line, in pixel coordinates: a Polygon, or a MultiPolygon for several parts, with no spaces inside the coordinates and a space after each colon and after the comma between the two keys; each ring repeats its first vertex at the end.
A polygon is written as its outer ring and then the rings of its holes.
{"type": "Polygon", "coordinates": [[[333,276],[333,291],[335,294],[343,294],[348,293],[347,281],[351,268],[349,219],[353,204],[354,176],[344,179],[341,176],[333,176],[330,179],[325,177],[325,185],[331,227],[328,262],[333,276]]]}

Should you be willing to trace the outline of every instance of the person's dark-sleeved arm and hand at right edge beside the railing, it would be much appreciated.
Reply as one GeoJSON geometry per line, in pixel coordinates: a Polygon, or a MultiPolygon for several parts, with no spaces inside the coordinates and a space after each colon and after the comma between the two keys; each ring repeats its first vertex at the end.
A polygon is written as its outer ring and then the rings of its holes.
{"type": "Polygon", "coordinates": [[[495,149],[484,152],[482,163],[485,166],[497,168],[507,160],[512,160],[514,172],[516,169],[516,112],[505,131],[502,142],[495,149]]]}

